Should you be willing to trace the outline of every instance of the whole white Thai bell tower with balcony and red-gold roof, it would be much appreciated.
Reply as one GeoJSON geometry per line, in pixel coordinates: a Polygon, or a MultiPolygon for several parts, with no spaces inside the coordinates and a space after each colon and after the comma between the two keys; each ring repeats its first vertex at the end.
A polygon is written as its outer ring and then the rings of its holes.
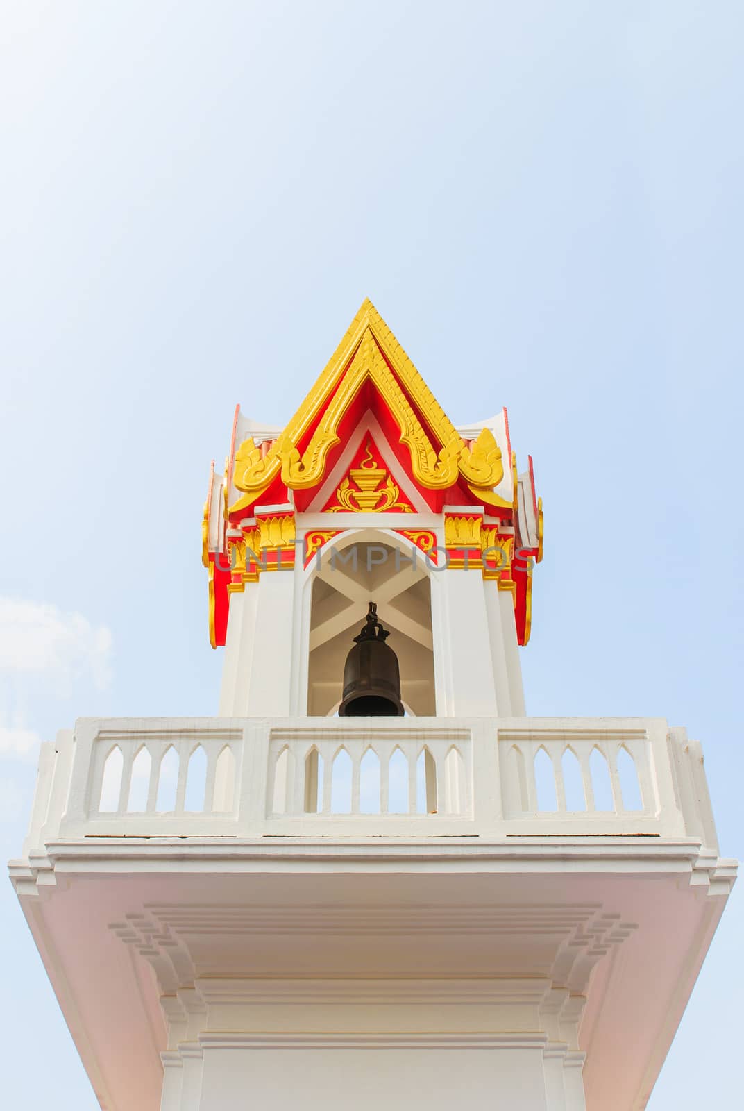
{"type": "Polygon", "coordinates": [[[735,863],[683,729],[525,714],[505,410],[365,301],[202,543],[219,712],[60,732],[10,869],[101,1108],[645,1108],[735,863]]]}

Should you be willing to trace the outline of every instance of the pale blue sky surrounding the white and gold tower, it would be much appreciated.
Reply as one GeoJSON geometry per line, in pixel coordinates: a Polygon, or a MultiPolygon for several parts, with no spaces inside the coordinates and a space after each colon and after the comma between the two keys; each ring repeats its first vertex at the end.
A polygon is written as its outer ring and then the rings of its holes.
{"type": "MultiPolygon", "coordinates": [[[[2,4],[6,857],[37,738],[215,711],[209,461],[365,296],[534,457],[527,711],[686,725],[742,854],[743,36],[726,0],[2,4]]],[[[92,1111],[1,898],[6,1083],[92,1111]]],[[[743,928],[735,892],[650,1111],[732,1104],[743,928]]]]}

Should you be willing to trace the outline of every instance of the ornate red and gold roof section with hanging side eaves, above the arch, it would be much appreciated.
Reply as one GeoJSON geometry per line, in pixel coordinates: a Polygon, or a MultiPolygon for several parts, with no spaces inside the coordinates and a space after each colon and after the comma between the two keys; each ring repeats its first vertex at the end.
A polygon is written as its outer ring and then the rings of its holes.
{"type": "Polygon", "coordinates": [[[306,568],[329,538],[362,527],[392,528],[438,569],[476,569],[511,591],[526,643],[542,556],[532,463],[517,472],[505,409],[455,428],[369,300],[283,429],[235,410],[202,522],[211,643],[225,642],[230,598],[293,570],[296,543],[306,568]]]}

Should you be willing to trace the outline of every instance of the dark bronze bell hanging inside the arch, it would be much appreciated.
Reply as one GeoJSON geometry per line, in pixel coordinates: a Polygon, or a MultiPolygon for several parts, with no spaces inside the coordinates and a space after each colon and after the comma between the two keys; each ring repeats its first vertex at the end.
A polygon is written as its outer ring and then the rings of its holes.
{"type": "Polygon", "coordinates": [[[343,669],[341,718],[402,718],[401,673],[398,657],[385,644],[390,632],[378,621],[378,607],[370,602],[364,628],[343,669]]]}

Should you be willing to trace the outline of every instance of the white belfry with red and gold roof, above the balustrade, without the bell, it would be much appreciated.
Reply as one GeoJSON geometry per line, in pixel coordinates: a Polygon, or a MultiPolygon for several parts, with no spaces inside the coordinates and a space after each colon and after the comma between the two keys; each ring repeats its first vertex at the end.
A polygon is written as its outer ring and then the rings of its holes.
{"type": "Polygon", "coordinates": [[[455,428],[370,301],[285,429],[237,410],[203,533],[220,713],[334,713],[369,600],[409,713],[524,713],[532,460],[517,472],[505,410],[455,428]]]}

